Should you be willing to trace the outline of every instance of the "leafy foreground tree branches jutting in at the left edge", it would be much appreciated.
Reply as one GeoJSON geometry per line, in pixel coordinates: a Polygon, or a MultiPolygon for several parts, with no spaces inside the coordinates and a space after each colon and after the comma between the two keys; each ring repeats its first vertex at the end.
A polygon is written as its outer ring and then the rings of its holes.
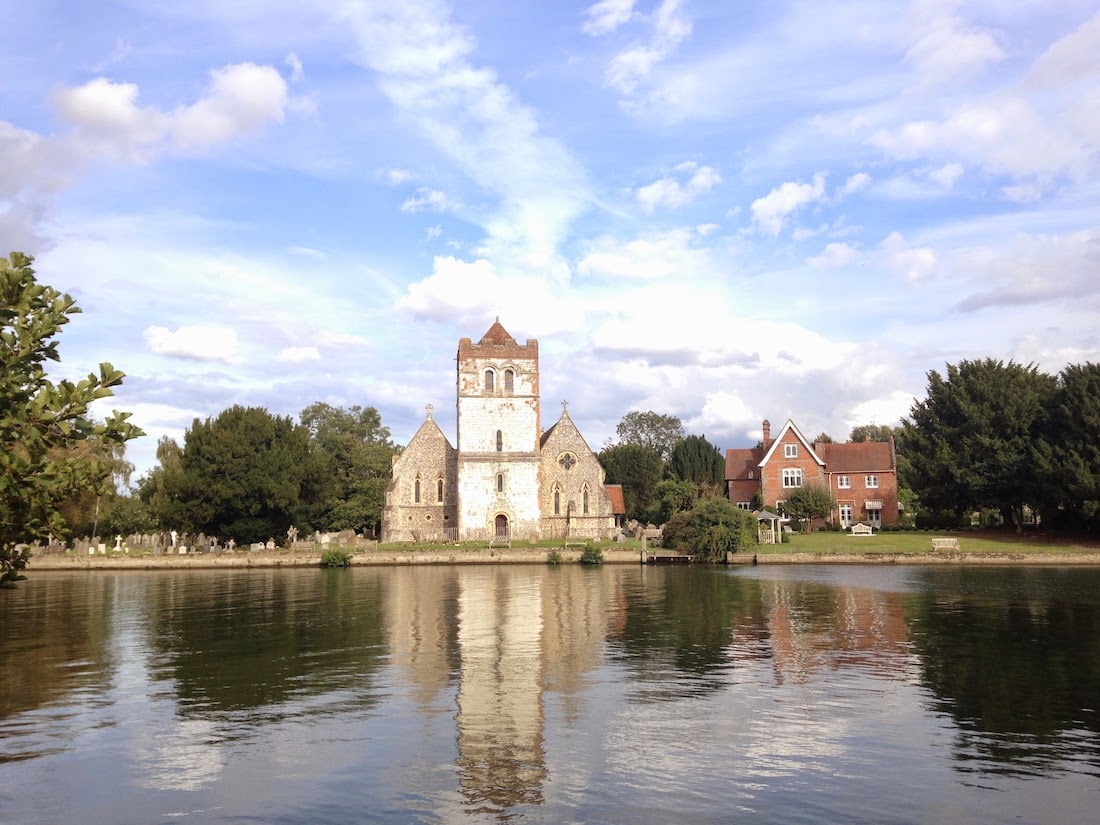
{"type": "Polygon", "coordinates": [[[59,505],[110,477],[100,453],[78,448],[144,435],[128,413],[103,422],[88,415],[92,402],[122,383],[110,364],[76,383],[46,377],[46,363],[61,360],[53,339],[80,309],[37,283],[33,261],[21,252],[0,258],[0,584],[24,578],[30,552],[19,543],[65,535],[59,505]]]}

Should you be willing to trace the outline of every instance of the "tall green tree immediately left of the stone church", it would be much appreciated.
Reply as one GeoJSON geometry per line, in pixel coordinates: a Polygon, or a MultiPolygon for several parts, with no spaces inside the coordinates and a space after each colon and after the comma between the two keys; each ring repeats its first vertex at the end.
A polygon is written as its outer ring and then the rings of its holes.
{"type": "Polygon", "coordinates": [[[318,519],[332,530],[373,529],[382,521],[397,447],[374,407],[349,409],[318,402],[299,416],[326,462],[331,486],[318,519]]]}

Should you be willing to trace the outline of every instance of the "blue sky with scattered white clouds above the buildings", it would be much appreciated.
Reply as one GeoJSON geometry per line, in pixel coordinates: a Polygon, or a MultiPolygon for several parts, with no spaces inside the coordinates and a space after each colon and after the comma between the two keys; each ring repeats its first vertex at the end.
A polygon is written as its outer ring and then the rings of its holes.
{"type": "MultiPolygon", "coordinates": [[[[543,426],[845,440],[964,359],[1100,361],[1100,3],[0,0],[0,255],[127,374],[138,475],[233,405],[454,441],[460,338],[543,426]]],[[[97,403],[100,405],[100,403],[97,403]]]]}

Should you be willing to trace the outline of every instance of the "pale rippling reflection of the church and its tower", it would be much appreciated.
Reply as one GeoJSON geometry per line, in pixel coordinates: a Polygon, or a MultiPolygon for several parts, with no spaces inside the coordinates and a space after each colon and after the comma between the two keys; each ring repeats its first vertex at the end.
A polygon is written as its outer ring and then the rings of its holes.
{"type": "Polygon", "coordinates": [[[542,803],[546,693],[562,695],[569,713],[570,695],[603,656],[606,605],[620,603],[609,592],[619,576],[556,576],[544,586],[556,571],[393,572],[391,652],[410,672],[416,701],[431,706],[460,674],[455,768],[468,811],[504,814],[542,803]]]}

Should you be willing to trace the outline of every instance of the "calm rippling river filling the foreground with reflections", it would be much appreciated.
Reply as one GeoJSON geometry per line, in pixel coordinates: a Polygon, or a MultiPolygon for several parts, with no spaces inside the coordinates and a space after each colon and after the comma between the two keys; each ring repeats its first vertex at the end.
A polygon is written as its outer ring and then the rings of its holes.
{"type": "Polygon", "coordinates": [[[1100,570],[30,571],[0,822],[1100,820],[1100,570]]]}

